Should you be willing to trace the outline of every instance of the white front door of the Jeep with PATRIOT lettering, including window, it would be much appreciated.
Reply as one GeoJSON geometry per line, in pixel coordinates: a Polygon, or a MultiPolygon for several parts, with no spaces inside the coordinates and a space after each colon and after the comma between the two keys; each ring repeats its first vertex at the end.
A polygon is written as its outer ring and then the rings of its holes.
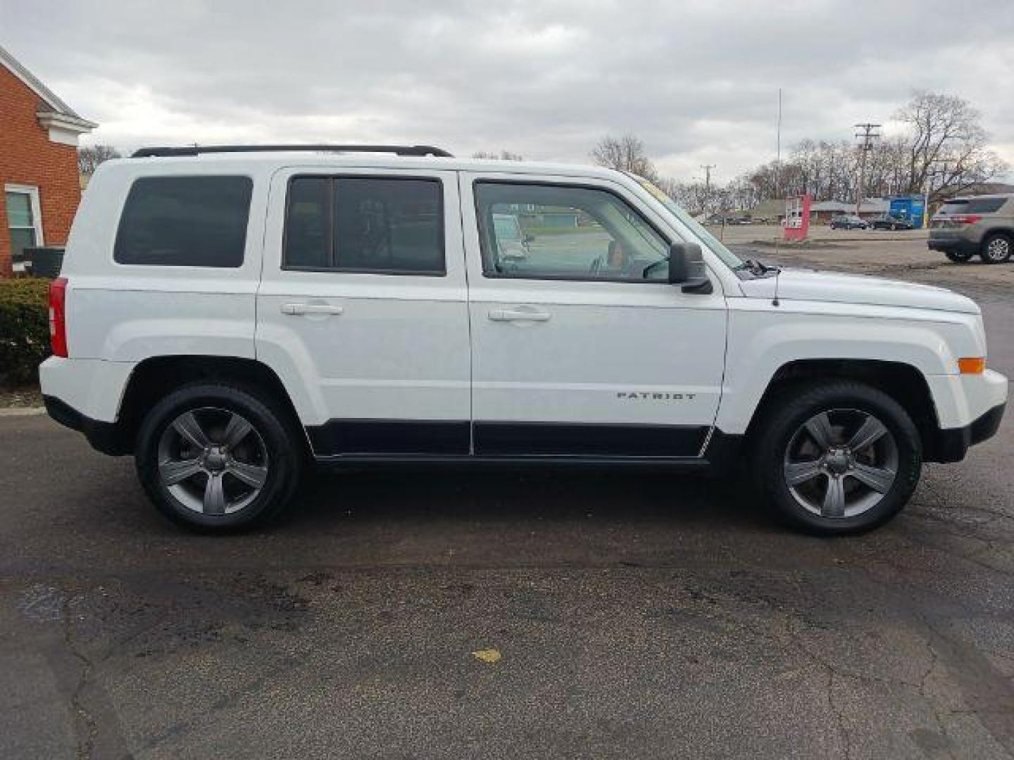
{"type": "Polygon", "coordinates": [[[669,285],[675,236],[619,183],[460,187],[475,453],[700,457],[725,356],[717,279],[708,295],[669,285]]]}

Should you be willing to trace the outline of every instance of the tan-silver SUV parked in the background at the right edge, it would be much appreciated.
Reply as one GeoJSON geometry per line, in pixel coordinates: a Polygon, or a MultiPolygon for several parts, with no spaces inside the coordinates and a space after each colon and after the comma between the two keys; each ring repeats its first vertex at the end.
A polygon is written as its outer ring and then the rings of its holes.
{"type": "Polygon", "coordinates": [[[976,253],[986,263],[1003,263],[1014,253],[1014,193],[952,198],[933,216],[931,250],[952,261],[976,253]]]}

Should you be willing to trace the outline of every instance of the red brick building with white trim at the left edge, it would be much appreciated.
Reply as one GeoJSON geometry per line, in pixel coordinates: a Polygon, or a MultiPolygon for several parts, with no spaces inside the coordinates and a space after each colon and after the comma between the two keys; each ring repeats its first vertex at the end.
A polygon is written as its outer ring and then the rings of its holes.
{"type": "Polygon", "coordinates": [[[96,126],[0,48],[0,277],[22,248],[67,242],[81,200],[77,139],[96,126]]]}

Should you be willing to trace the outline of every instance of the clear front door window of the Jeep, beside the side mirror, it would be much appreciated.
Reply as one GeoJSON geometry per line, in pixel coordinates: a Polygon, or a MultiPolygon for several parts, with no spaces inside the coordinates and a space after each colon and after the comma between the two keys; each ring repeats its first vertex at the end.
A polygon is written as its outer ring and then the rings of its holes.
{"type": "Polygon", "coordinates": [[[665,280],[668,245],[634,209],[594,187],[477,182],[488,277],[665,280]]]}

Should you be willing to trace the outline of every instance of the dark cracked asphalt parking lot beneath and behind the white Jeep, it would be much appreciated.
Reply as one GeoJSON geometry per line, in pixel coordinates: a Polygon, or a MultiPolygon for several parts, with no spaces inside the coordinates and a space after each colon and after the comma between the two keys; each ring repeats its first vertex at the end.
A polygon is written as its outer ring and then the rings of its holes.
{"type": "MultiPolygon", "coordinates": [[[[1014,376],[1014,263],[825,242],[755,254],[963,292],[1014,376]]],[[[0,417],[0,756],[1010,757],[1011,452],[1008,415],[848,539],[737,483],[534,468],[324,473],[209,538],[0,417]]]]}

